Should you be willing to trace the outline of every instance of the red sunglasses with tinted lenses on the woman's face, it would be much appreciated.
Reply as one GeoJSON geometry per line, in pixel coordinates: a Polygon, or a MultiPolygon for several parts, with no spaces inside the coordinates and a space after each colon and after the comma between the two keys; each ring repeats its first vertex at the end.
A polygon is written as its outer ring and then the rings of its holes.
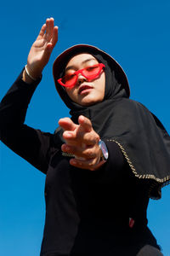
{"type": "Polygon", "coordinates": [[[58,79],[58,83],[65,87],[74,87],[75,84],[77,84],[78,74],[81,73],[83,77],[88,79],[88,81],[91,81],[93,79],[96,79],[99,76],[99,73],[101,73],[101,70],[105,67],[103,63],[95,64],[94,66],[89,66],[82,68],[80,70],[77,70],[74,73],[66,74],[63,78],[58,79]]]}

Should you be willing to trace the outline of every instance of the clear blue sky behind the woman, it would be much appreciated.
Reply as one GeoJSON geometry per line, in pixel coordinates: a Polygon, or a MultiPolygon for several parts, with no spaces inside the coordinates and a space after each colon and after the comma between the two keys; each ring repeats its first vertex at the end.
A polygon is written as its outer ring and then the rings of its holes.
{"type": "MultiPolygon", "coordinates": [[[[170,1],[3,1],[0,98],[14,82],[46,18],[59,26],[59,42],[45,67],[26,116],[26,124],[54,132],[68,109],[52,77],[57,55],[73,44],[94,44],[122,65],[131,98],[144,103],[170,132],[170,1]]],[[[0,144],[0,254],[39,255],[45,215],[45,175],[0,144]]],[[[149,226],[170,255],[170,187],[160,201],[150,201],[149,226]]]]}

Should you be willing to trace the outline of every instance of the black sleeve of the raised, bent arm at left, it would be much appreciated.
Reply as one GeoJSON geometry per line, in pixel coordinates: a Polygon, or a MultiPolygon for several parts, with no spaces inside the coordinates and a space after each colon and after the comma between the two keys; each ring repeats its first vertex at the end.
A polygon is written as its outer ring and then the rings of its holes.
{"type": "Polygon", "coordinates": [[[53,135],[24,124],[26,110],[40,79],[26,84],[22,73],[0,103],[0,139],[16,154],[46,173],[53,135]]]}

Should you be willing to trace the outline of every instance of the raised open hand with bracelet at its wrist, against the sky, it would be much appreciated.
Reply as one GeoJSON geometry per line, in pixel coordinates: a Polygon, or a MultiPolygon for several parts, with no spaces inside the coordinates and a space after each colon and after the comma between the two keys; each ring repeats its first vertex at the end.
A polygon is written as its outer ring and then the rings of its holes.
{"type": "Polygon", "coordinates": [[[54,26],[53,18],[47,19],[28,55],[27,70],[31,77],[37,79],[41,76],[57,40],[58,26],[54,26]]]}

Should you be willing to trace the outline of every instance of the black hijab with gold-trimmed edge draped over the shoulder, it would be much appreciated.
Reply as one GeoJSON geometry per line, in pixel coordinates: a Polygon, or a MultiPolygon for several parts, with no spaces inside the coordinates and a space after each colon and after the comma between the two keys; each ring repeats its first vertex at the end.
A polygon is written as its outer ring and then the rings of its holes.
{"type": "MultiPolygon", "coordinates": [[[[99,49],[88,46],[74,48],[58,66],[57,79],[54,73],[56,88],[65,105],[71,109],[71,119],[77,123],[79,115],[88,117],[102,140],[117,143],[135,177],[148,183],[149,196],[159,199],[161,187],[170,183],[170,137],[153,113],[128,98],[127,81],[120,73],[120,66],[112,60],[99,49]],[[72,102],[65,89],[57,83],[66,62],[82,52],[94,55],[105,64],[105,98],[90,107],[72,102]]],[[[56,143],[63,143],[60,129],[56,130],[55,136],[56,143]]]]}

